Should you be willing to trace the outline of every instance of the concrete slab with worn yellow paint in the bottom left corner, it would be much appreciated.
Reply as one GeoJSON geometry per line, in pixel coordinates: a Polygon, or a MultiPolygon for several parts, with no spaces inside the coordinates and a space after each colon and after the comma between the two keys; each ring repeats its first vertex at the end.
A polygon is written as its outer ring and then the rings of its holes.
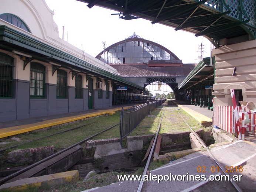
{"type": "Polygon", "coordinates": [[[0,190],[8,189],[13,191],[14,190],[25,191],[28,187],[54,186],[54,185],[65,184],[66,182],[78,181],[78,179],[79,179],[79,172],[77,170],[67,171],[67,172],[62,172],[57,174],[20,179],[14,182],[1,185],[0,190]]]}

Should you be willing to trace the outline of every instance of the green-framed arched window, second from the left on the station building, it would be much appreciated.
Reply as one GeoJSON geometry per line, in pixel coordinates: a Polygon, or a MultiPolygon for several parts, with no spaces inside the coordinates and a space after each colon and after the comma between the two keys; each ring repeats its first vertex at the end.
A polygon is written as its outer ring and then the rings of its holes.
{"type": "Polygon", "coordinates": [[[30,98],[45,98],[45,66],[36,62],[30,64],[30,98]]]}

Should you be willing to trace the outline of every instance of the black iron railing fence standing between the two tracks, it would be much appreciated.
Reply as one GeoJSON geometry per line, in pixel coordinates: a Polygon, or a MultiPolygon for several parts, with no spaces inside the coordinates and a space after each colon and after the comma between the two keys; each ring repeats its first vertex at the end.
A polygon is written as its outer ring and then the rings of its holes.
{"type": "Polygon", "coordinates": [[[140,121],[147,116],[147,114],[150,114],[151,111],[165,102],[165,100],[156,100],[136,107],[122,108],[119,124],[121,144],[123,138],[131,133],[139,125],[140,121]]]}

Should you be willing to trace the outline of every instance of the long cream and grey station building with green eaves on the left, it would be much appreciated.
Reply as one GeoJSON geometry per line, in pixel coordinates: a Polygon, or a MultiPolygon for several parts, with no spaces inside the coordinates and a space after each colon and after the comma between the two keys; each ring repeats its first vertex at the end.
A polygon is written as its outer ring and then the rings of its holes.
{"type": "Polygon", "coordinates": [[[114,86],[143,90],[59,38],[53,15],[44,0],[1,1],[0,121],[112,107],[114,86]]]}

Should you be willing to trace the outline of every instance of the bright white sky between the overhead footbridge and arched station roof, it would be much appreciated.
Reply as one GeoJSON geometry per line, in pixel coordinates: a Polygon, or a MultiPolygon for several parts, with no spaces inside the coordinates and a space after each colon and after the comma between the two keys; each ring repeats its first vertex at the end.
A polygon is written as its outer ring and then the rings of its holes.
{"type": "Polygon", "coordinates": [[[162,24],[151,24],[142,18],[123,20],[117,11],[93,6],[76,0],[45,0],[54,11],[54,21],[59,28],[59,37],[84,52],[96,56],[110,45],[125,40],[129,36],[139,35],[145,40],[156,42],[173,52],[183,63],[198,63],[201,43],[204,45],[203,58],[210,56],[211,42],[204,37],[195,37],[186,31],[175,31],[162,24]],[[63,27],[64,26],[64,33],[63,27]]]}

